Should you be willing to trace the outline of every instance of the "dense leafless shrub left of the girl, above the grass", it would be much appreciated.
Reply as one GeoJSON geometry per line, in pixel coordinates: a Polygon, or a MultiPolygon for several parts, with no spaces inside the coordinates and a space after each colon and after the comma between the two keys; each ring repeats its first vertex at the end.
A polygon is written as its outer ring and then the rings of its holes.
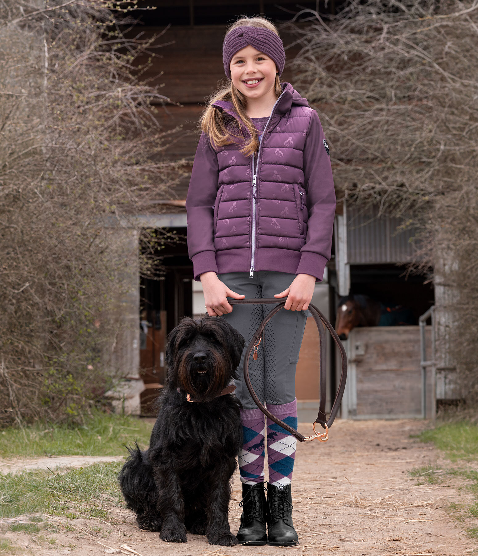
{"type": "Polygon", "coordinates": [[[171,101],[140,81],[151,41],[120,33],[128,2],[37,6],[0,3],[0,425],[79,415],[119,378],[113,301],[139,230],[118,223],[183,171],[161,161],[153,103],[171,101]]]}

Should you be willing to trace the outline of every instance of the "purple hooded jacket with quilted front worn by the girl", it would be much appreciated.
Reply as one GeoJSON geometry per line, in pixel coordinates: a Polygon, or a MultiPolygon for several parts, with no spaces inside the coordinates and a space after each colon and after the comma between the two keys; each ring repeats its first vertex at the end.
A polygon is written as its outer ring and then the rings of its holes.
{"type": "MultiPolygon", "coordinates": [[[[215,150],[201,133],[186,198],[196,281],[208,271],[323,278],[335,214],[329,146],[317,112],[290,83],[281,87],[256,155],[215,150]]],[[[243,125],[232,103],[213,106],[243,125]]]]}

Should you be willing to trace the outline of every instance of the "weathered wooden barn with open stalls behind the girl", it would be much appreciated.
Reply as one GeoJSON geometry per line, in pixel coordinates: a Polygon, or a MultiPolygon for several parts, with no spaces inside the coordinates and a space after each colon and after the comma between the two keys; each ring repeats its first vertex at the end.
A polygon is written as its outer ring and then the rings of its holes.
{"type": "MultiPolygon", "coordinates": [[[[192,167],[199,138],[197,122],[205,98],[219,82],[225,80],[222,64],[222,41],[227,25],[239,14],[265,14],[278,25],[288,21],[298,11],[296,4],[264,0],[234,3],[212,0],[180,0],[175,2],[148,2],[155,11],[137,12],[143,21],[143,37],[165,29],[160,37],[163,46],[161,58],[146,77],[159,82],[162,93],[177,104],[168,104],[160,111],[165,130],[175,130],[173,141],[164,152],[166,160],[185,158],[192,167]],[[157,80],[157,78],[155,78],[157,80]],[[163,85],[164,82],[164,85],[163,85]]],[[[321,1],[303,2],[302,7],[334,10],[334,2],[327,7],[321,1]]],[[[306,13],[298,18],[298,26],[305,24],[306,13]],[[304,22],[301,23],[300,20],[304,22]]],[[[134,30],[136,31],[137,28],[134,30]]],[[[290,61],[298,53],[293,34],[281,31],[287,60],[283,81],[294,83],[290,61]]],[[[197,318],[205,314],[204,296],[200,282],[193,280],[193,266],[187,250],[187,224],[184,208],[189,176],[180,180],[170,192],[170,198],[151,200],[148,214],[139,215],[143,227],[175,232],[182,242],[166,244],[162,250],[164,271],[155,279],[133,277],[132,296],[124,305],[125,316],[132,322],[139,318],[127,341],[134,348],[130,356],[131,389],[129,410],[149,415],[151,403],[164,384],[167,368],[164,361],[168,332],[182,316],[197,318]],[[154,205],[154,206],[153,206],[154,205]],[[139,292],[135,280],[140,281],[139,292]],[[139,359],[138,359],[139,358],[139,359]],[[140,386],[140,388],[138,388],[140,386]]],[[[326,267],[324,280],[316,284],[313,304],[335,321],[340,296],[346,296],[352,287],[354,293],[364,294],[387,306],[410,307],[415,322],[408,326],[363,327],[355,329],[345,341],[350,361],[349,380],[341,415],[344,418],[399,418],[432,414],[432,366],[422,373],[420,361],[431,358],[431,325],[421,327],[425,342],[420,347],[419,317],[435,304],[434,286],[426,277],[407,273],[406,264],[414,260],[415,249],[411,239],[413,230],[401,230],[402,222],[393,217],[378,217],[373,210],[339,205],[334,229],[332,258],[326,267]],[[426,347],[427,352],[421,353],[426,347]],[[426,388],[423,389],[424,375],[426,388]],[[424,395],[424,393],[426,395],[424,395]],[[425,413],[424,413],[425,412],[425,413]]],[[[124,230],[127,234],[127,230],[124,230]]],[[[132,232],[130,249],[138,250],[138,236],[132,232]]],[[[318,334],[309,317],[301,347],[296,375],[299,420],[313,420],[318,407],[318,334]]],[[[430,322],[430,321],[428,321],[430,322]]],[[[338,365],[338,357],[331,344],[327,346],[331,369],[338,365]]],[[[442,365],[446,368],[446,363],[442,365]]],[[[335,371],[329,370],[328,400],[335,394],[335,371]]],[[[445,381],[441,379],[441,394],[445,398],[445,381]]]]}

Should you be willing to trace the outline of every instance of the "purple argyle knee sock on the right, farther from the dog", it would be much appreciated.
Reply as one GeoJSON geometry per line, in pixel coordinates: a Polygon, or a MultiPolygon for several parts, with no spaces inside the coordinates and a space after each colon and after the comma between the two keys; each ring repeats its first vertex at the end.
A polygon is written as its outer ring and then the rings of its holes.
{"type": "MultiPolygon", "coordinates": [[[[297,430],[297,400],[288,404],[267,405],[267,409],[286,425],[297,430]]],[[[267,461],[269,483],[286,486],[292,479],[297,440],[281,426],[267,419],[267,461]]]]}

